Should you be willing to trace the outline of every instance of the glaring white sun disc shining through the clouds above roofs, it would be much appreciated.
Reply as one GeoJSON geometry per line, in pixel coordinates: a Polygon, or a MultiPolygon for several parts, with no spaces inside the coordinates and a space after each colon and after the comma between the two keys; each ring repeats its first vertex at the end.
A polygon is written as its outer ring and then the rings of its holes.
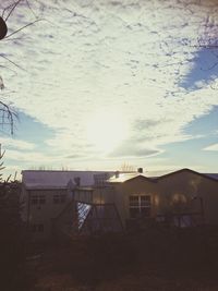
{"type": "Polygon", "coordinates": [[[126,137],[126,124],[120,113],[97,112],[87,122],[87,141],[97,150],[110,153],[126,137]]]}

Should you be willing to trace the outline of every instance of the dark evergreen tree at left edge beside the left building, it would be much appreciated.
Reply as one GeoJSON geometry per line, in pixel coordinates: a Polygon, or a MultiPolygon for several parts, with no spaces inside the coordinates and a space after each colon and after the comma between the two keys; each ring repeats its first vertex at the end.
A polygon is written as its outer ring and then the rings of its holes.
{"type": "Polygon", "coordinates": [[[0,147],[0,271],[3,290],[13,290],[14,276],[24,259],[25,228],[21,220],[21,183],[2,179],[4,153],[0,147]]]}

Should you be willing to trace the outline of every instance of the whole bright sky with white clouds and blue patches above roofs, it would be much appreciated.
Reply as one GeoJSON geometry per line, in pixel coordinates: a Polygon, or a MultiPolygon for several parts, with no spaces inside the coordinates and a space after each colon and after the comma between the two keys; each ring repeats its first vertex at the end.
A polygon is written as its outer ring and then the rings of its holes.
{"type": "Polygon", "coordinates": [[[8,35],[36,19],[0,40],[8,172],[218,172],[218,1],[23,0],[8,35]]]}

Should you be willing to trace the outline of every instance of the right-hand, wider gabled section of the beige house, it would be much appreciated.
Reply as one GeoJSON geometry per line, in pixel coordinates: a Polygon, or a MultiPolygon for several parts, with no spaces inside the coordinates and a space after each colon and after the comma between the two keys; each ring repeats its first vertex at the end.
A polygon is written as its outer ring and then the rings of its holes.
{"type": "Polygon", "coordinates": [[[218,225],[218,175],[183,169],[156,181],[158,211],[199,214],[197,223],[218,225]]]}

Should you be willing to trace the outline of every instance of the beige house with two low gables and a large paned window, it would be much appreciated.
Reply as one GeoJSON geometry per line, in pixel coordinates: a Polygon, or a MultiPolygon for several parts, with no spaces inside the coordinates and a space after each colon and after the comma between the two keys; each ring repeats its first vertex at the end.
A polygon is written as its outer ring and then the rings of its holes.
{"type": "Polygon", "coordinates": [[[171,219],[180,227],[218,225],[218,175],[182,169],[158,178],[142,172],[108,180],[122,222],[171,219]]]}

